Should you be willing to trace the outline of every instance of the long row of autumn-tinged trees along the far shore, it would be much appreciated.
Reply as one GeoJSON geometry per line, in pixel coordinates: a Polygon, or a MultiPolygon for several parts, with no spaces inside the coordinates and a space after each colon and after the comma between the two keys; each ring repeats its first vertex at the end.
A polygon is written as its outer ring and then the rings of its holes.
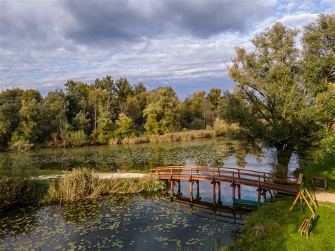
{"type": "Polygon", "coordinates": [[[223,93],[199,91],[183,102],[171,87],[147,91],[126,78],[111,76],[93,83],[69,80],[45,98],[39,91],[8,89],[0,93],[1,148],[24,150],[107,144],[143,134],[212,128],[223,93]]]}

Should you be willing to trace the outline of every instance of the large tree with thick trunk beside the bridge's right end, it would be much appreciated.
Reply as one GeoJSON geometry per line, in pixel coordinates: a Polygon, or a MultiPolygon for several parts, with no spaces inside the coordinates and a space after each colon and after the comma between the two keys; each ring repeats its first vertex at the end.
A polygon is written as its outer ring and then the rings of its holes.
{"type": "MultiPolygon", "coordinates": [[[[312,24],[314,27],[319,25],[312,24]]],[[[332,27],[334,31],[334,25],[332,27]]],[[[307,29],[305,35],[315,32],[312,30],[307,29]]],[[[321,28],[314,30],[324,33],[321,28]]],[[[295,47],[296,35],[297,30],[276,23],[252,39],[254,51],[247,52],[245,48],[237,47],[233,64],[228,66],[229,75],[236,82],[232,103],[239,106],[230,119],[247,127],[249,133],[264,141],[266,146],[276,148],[279,175],[287,175],[292,153],[300,156],[306,153],[324,136],[334,118],[334,113],[331,117],[327,115],[327,110],[334,111],[334,102],[323,102],[325,97],[334,93],[330,78],[323,78],[327,84],[322,86],[315,78],[307,78],[309,74],[305,71],[313,63],[305,62],[307,58],[301,54],[310,51],[310,44],[303,40],[300,52],[295,47]],[[243,101],[238,104],[234,100],[243,101]],[[313,116],[319,112],[322,115],[313,116]]],[[[326,64],[317,70],[313,66],[312,71],[317,73],[310,74],[314,76],[334,74],[334,36],[329,39],[331,42],[328,44],[333,46],[332,49],[329,47],[330,54],[313,52],[326,64]]]]}

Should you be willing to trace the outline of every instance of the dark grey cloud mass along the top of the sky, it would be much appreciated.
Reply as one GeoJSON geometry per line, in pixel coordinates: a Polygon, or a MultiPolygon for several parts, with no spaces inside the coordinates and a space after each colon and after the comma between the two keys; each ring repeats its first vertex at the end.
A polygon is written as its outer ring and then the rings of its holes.
{"type": "Polygon", "coordinates": [[[210,37],[225,31],[242,32],[269,11],[269,6],[248,0],[68,0],[63,4],[72,19],[64,27],[66,37],[90,45],[139,42],[153,37],[210,37]]]}

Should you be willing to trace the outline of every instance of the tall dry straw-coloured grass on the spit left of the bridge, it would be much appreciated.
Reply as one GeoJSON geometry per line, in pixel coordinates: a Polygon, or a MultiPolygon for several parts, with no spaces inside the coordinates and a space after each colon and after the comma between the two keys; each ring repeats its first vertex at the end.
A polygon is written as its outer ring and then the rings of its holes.
{"type": "Polygon", "coordinates": [[[153,178],[99,179],[88,168],[75,169],[66,173],[58,184],[49,183],[45,202],[72,202],[92,199],[106,194],[132,194],[158,192],[165,189],[165,182],[153,178]]]}

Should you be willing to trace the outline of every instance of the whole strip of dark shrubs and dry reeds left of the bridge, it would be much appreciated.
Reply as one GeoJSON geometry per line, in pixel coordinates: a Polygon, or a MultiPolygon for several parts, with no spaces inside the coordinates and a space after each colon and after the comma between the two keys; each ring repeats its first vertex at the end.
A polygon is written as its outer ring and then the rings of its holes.
{"type": "Polygon", "coordinates": [[[100,179],[89,168],[65,172],[61,180],[1,175],[0,209],[14,205],[74,202],[110,194],[157,193],[165,189],[165,182],[152,177],[100,179]]]}

